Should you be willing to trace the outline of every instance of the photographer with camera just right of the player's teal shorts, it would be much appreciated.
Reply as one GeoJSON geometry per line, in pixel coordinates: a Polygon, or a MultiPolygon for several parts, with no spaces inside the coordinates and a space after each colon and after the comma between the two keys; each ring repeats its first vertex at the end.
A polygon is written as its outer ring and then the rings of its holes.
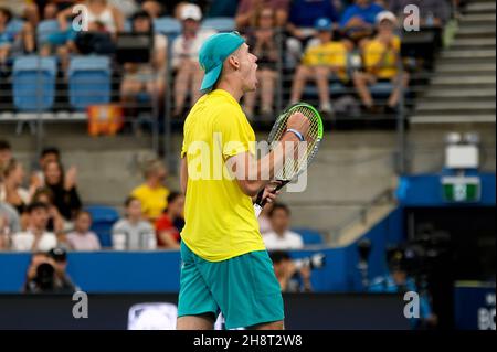
{"type": "Polygon", "coordinates": [[[274,274],[279,282],[282,292],[313,291],[310,268],[308,266],[297,269],[288,252],[285,250],[273,250],[269,253],[269,256],[273,260],[274,274]]]}

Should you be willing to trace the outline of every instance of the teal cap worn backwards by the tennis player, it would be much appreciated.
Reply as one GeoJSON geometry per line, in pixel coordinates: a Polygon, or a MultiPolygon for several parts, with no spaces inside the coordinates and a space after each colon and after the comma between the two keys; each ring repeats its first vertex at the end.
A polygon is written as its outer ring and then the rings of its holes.
{"type": "Polygon", "coordinates": [[[245,40],[237,33],[218,33],[210,36],[200,49],[199,63],[205,75],[200,87],[201,92],[209,92],[218,82],[223,63],[245,40]]]}

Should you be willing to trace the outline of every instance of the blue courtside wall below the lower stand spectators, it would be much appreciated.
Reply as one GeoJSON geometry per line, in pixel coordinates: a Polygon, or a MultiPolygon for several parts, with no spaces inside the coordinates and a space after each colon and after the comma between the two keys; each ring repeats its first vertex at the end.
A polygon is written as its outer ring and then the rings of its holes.
{"type": "MultiPolygon", "coordinates": [[[[482,199],[472,206],[495,206],[495,173],[479,174],[482,199]]],[[[442,198],[440,175],[410,175],[401,179],[398,190],[399,206],[373,226],[362,238],[372,243],[370,278],[387,271],[384,250],[388,245],[404,239],[404,206],[457,206],[442,198]]],[[[467,204],[466,204],[467,206],[467,204]]],[[[315,253],[326,255],[326,266],[313,271],[316,291],[360,291],[357,269],[357,242],[341,248],[321,247],[294,250],[293,257],[315,253]]],[[[24,281],[30,254],[0,254],[0,294],[19,292],[24,281]]],[[[179,289],[179,252],[98,252],[71,253],[67,271],[87,292],[177,292],[179,289]]]]}

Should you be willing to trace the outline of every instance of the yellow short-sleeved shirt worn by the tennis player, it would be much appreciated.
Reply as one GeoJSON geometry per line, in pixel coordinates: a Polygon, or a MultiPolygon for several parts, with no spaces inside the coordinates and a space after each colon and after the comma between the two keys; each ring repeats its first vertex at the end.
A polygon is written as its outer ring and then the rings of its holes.
{"type": "Polygon", "coordinates": [[[254,130],[240,104],[222,89],[202,96],[188,115],[183,134],[188,185],[182,241],[210,262],[265,249],[252,199],[225,167],[230,157],[255,153],[254,130]]]}

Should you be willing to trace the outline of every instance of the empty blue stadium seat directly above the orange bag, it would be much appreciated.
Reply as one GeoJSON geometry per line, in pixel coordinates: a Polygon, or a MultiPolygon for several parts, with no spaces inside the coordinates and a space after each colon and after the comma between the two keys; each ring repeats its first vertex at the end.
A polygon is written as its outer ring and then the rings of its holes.
{"type": "Polygon", "coordinates": [[[75,56],[68,68],[71,105],[83,110],[110,102],[110,60],[107,56],[75,56]]]}

